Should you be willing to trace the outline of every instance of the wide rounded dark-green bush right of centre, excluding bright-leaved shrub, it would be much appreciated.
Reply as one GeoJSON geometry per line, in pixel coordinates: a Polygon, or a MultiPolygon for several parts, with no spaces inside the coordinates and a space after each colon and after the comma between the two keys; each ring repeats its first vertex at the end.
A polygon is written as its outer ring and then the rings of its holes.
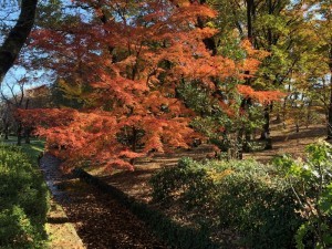
{"type": "MultiPolygon", "coordinates": [[[[185,158],[151,184],[155,201],[181,200],[200,211],[212,230],[228,230],[239,246],[290,248],[302,222],[291,186],[272,166],[253,160],[208,162],[185,158]],[[207,217],[207,214],[210,216],[207,217]]],[[[197,217],[197,215],[196,215],[197,217]]]]}

